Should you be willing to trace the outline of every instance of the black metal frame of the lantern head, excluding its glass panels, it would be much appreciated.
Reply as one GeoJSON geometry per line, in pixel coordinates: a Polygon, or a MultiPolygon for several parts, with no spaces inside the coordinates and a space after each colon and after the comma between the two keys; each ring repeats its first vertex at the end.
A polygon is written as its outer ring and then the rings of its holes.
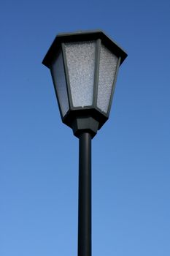
{"type": "MultiPolygon", "coordinates": [[[[58,100],[58,105],[61,113],[61,118],[64,124],[68,125],[73,129],[74,135],[77,137],[80,136],[82,131],[90,132],[92,138],[96,135],[98,129],[100,129],[103,124],[109,118],[109,112],[112,105],[112,98],[115,91],[115,82],[117,78],[117,72],[120,67],[120,64],[123,63],[127,54],[123,49],[121,49],[112,39],[107,37],[103,31],[80,31],[77,33],[69,33],[69,34],[58,34],[53,41],[50,49],[47,51],[45,59],[43,59],[42,64],[49,67],[53,64],[53,61],[56,59],[56,55],[61,50],[63,56],[63,67],[65,72],[66,78],[66,90],[69,100],[69,110],[65,116],[62,115],[61,105],[58,100]],[[95,72],[94,72],[94,87],[93,87],[93,103],[90,106],[85,107],[74,107],[72,102],[72,94],[70,89],[69,83],[69,70],[67,66],[66,60],[66,42],[82,42],[82,41],[96,41],[96,57],[95,57],[95,72]],[[97,107],[97,93],[98,93],[98,75],[99,75],[99,61],[100,61],[100,51],[101,51],[101,44],[106,46],[115,56],[118,57],[117,62],[117,69],[115,74],[115,79],[112,86],[112,94],[109,101],[109,107],[107,113],[104,113],[97,107]]],[[[53,75],[52,75],[53,77],[53,75]]],[[[55,87],[54,79],[53,84],[55,87]]],[[[55,94],[57,99],[58,92],[55,88],[55,94]]]]}

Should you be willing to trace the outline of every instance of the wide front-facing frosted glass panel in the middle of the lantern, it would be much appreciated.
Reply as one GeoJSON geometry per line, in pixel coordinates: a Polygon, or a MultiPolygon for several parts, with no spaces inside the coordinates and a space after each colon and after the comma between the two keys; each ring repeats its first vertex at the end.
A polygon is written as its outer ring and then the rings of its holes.
{"type": "Polygon", "coordinates": [[[73,106],[92,105],[96,42],[69,42],[65,46],[73,106]]]}

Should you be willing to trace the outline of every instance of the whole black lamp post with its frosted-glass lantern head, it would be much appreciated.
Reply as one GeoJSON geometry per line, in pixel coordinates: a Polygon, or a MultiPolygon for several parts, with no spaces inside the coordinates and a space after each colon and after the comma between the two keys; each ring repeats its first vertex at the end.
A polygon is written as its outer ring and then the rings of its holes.
{"type": "Polygon", "coordinates": [[[50,69],[61,119],[79,138],[78,256],[91,255],[91,140],[109,118],[127,54],[103,31],[58,34],[42,64],[50,69]]]}

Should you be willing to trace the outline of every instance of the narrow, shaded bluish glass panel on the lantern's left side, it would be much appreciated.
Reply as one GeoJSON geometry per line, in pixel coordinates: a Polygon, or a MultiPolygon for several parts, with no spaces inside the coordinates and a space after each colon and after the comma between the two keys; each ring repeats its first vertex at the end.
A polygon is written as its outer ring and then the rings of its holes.
{"type": "Polygon", "coordinates": [[[58,99],[61,105],[61,112],[62,115],[65,116],[66,112],[69,110],[69,101],[66,90],[66,78],[63,67],[63,56],[61,52],[59,53],[58,58],[53,63],[51,67],[51,72],[53,75],[56,91],[58,92],[58,99]]]}

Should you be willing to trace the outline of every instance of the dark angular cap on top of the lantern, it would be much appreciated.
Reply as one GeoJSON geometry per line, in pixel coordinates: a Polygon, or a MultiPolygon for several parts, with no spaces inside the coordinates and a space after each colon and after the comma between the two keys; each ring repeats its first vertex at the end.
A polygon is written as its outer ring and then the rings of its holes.
{"type": "Polygon", "coordinates": [[[120,64],[123,63],[125,58],[128,56],[125,51],[117,45],[104,31],[101,30],[92,30],[92,31],[75,31],[70,33],[60,33],[58,34],[52,45],[50,46],[45,58],[42,61],[46,67],[50,68],[50,65],[53,61],[53,58],[56,54],[56,51],[61,48],[62,42],[81,42],[81,41],[89,41],[101,39],[102,43],[109,48],[117,57],[120,57],[120,64]]]}

